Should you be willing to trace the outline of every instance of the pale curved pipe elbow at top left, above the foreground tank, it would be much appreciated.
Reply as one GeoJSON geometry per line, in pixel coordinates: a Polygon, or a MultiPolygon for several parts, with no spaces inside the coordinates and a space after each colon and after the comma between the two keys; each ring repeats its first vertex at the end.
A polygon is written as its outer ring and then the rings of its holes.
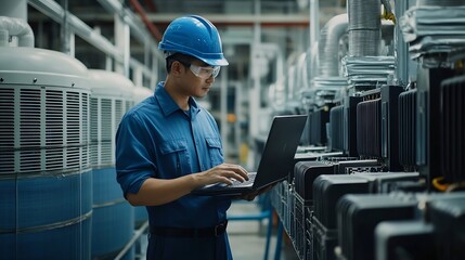
{"type": "Polygon", "coordinates": [[[34,48],[34,32],[25,21],[0,16],[0,47],[7,47],[11,36],[17,37],[18,47],[34,48]]]}

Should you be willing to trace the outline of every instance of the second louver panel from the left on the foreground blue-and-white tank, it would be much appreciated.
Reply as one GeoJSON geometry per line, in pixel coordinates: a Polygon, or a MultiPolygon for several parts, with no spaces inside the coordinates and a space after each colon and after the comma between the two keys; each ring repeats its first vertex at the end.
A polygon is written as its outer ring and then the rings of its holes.
{"type": "Polygon", "coordinates": [[[41,168],[40,159],[40,89],[21,90],[21,172],[37,172],[41,168]]]}

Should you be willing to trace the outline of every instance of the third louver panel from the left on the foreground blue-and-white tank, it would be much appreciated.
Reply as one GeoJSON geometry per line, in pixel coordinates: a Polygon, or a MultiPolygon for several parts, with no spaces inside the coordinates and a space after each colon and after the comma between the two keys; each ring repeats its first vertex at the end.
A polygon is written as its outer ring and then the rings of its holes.
{"type": "Polygon", "coordinates": [[[63,91],[46,91],[46,168],[63,169],[63,91]]]}

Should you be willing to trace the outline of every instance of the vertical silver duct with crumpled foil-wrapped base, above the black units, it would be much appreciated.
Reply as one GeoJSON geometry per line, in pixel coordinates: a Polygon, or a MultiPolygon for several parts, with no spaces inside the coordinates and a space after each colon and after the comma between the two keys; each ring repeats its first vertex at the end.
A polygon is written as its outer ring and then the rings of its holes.
{"type": "MultiPolygon", "coordinates": [[[[370,90],[390,82],[395,57],[388,46],[382,53],[382,15],[378,0],[350,0],[349,53],[341,60],[341,74],[349,83],[348,93],[370,90]]],[[[392,25],[383,24],[385,43],[391,44],[392,25]]]]}

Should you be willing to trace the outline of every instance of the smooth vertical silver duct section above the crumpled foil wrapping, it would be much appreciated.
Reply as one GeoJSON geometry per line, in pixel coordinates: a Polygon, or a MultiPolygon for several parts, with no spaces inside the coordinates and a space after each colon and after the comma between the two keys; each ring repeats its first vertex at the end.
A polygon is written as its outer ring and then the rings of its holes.
{"type": "Polygon", "coordinates": [[[349,0],[349,56],[377,56],[380,43],[380,1],[349,0]]]}

